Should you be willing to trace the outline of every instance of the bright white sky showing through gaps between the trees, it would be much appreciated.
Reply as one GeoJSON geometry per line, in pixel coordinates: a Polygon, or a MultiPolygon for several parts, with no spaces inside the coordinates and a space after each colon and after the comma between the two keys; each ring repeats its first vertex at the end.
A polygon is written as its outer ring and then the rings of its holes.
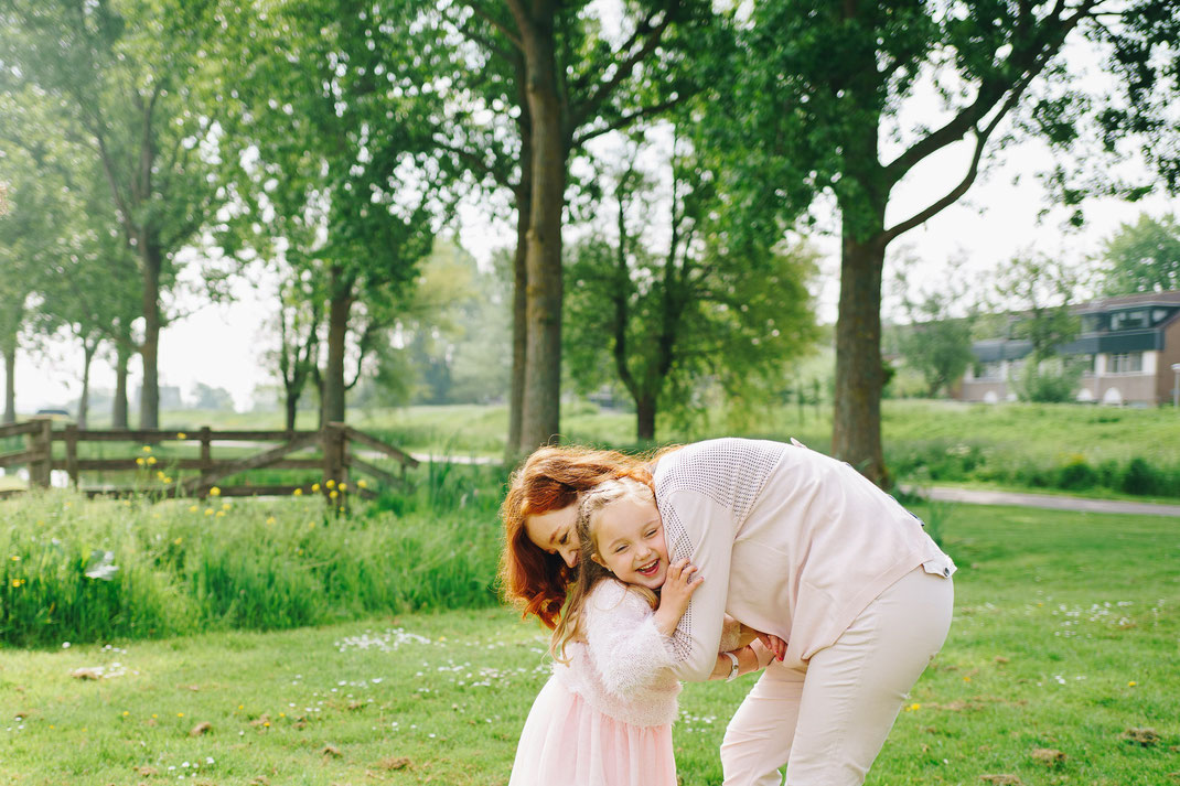
{"type": "MultiPolygon", "coordinates": [[[[925,114],[931,123],[937,114],[932,101],[918,100],[911,111],[925,114]]],[[[965,197],[894,241],[891,253],[896,257],[904,251],[918,260],[918,275],[912,277],[927,283],[937,283],[945,261],[951,257],[962,257],[966,274],[981,279],[1004,261],[1027,251],[1084,266],[1092,264],[1103,241],[1121,223],[1133,223],[1145,211],[1159,216],[1176,210],[1176,201],[1162,196],[1138,204],[1092,201],[1086,207],[1087,225],[1081,230],[1067,230],[1068,214],[1060,208],[1045,211],[1044,194],[1030,177],[1044,168],[1047,155],[1043,145],[1035,140],[1010,145],[981,173],[965,197]]],[[[961,144],[944,150],[916,170],[894,190],[886,223],[909,217],[949,190],[965,171],[968,157],[966,145],[961,144]]],[[[815,212],[820,218],[819,234],[811,241],[820,250],[822,261],[812,294],[820,321],[831,323],[835,321],[839,296],[837,223],[830,207],[821,203],[815,212]]],[[[477,203],[463,205],[457,229],[459,242],[484,264],[494,249],[514,242],[513,228],[490,217],[477,203]]],[[[890,264],[885,276],[887,290],[890,264]]],[[[236,300],[227,304],[204,304],[198,297],[182,296],[178,304],[192,313],[160,334],[160,384],[178,386],[185,397],[197,382],[223,387],[232,394],[240,411],[249,408],[256,386],[275,384],[264,360],[271,340],[267,321],[274,310],[270,304],[274,290],[273,281],[261,279],[240,281],[234,287],[236,300]]],[[[889,297],[885,315],[891,315],[889,297]]],[[[77,398],[80,358],[80,348],[61,343],[20,353],[15,373],[18,412],[61,406],[77,398]]],[[[138,387],[135,367],[136,363],[132,365],[131,389],[138,387]]],[[[107,362],[94,362],[91,384],[94,388],[114,387],[113,371],[107,362]]]]}

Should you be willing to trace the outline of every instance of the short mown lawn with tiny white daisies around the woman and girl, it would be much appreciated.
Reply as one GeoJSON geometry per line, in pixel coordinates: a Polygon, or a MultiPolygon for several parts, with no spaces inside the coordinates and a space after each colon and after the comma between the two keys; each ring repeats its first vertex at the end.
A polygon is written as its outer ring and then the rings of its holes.
{"type": "MultiPolygon", "coordinates": [[[[951,509],[955,624],[868,784],[1180,784],[1178,526],[951,509]]],[[[0,782],[506,784],[544,649],[486,609],[0,650],[0,782]]],[[[686,687],[686,786],[752,679],[686,687]]]]}

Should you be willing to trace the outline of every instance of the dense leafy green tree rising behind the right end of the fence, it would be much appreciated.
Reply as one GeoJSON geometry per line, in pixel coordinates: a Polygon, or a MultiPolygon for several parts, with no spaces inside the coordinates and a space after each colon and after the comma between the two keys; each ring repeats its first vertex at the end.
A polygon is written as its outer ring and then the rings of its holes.
{"type": "Polygon", "coordinates": [[[441,210],[422,161],[424,118],[441,97],[398,37],[414,19],[411,6],[353,0],[297,0],[266,17],[236,8],[234,35],[219,42],[223,79],[208,97],[228,107],[222,188],[235,201],[218,238],[247,260],[281,249],[310,283],[287,294],[323,299],[324,361],[313,376],[328,421],[345,419],[346,391],[392,323],[441,210]]]}

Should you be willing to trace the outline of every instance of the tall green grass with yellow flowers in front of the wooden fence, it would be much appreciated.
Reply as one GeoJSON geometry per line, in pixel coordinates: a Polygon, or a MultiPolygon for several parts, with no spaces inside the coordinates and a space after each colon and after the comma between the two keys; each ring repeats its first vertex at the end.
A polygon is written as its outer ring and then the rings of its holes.
{"type": "Polygon", "coordinates": [[[275,630],[496,602],[499,467],[431,463],[347,513],[319,498],[0,503],[0,643],[275,630]],[[87,576],[106,552],[118,568],[87,576]]]}

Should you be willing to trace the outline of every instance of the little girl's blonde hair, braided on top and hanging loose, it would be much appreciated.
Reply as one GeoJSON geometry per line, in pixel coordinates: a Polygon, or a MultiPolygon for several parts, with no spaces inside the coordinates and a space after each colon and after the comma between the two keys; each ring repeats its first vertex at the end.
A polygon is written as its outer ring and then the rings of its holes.
{"type": "MultiPolygon", "coordinates": [[[[549,642],[549,654],[560,663],[569,663],[565,656],[565,646],[582,636],[582,609],[585,605],[590,591],[604,578],[612,578],[607,568],[598,564],[594,557],[601,557],[598,551],[598,538],[595,533],[596,524],[602,520],[603,512],[611,505],[621,502],[632,502],[637,504],[655,505],[656,496],[651,486],[647,483],[630,477],[604,480],[594,489],[583,492],[578,497],[577,533],[579,543],[577,575],[571,582],[569,601],[565,610],[553,628],[553,635],[549,642]]],[[[660,596],[645,587],[630,584],[648,603],[655,609],[660,603],[660,596]]]]}

